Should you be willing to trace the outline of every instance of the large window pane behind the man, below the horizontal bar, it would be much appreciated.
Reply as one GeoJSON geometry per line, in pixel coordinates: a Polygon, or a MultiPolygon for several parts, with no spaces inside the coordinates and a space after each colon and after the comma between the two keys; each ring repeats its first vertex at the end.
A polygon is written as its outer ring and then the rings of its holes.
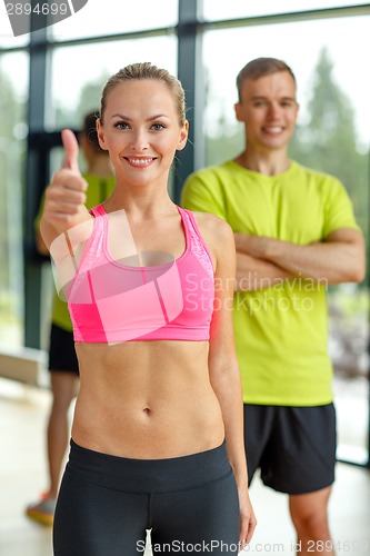
{"type": "MultiPolygon", "coordinates": [[[[234,158],[243,148],[243,130],[233,111],[239,70],[253,58],[281,58],[298,80],[300,116],[291,157],[343,182],[368,244],[370,81],[364,68],[369,24],[367,16],[210,31],[204,37],[203,59],[207,166],[234,158]],[[349,37],[346,42],[344,36],[349,37]],[[329,106],[323,105],[324,88],[331,91],[329,106]],[[322,118],[322,113],[331,117],[322,118]]],[[[369,277],[359,286],[341,285],[329,291],[338,454],[358,463],[368,457],[368,284],[369,277]]]]}

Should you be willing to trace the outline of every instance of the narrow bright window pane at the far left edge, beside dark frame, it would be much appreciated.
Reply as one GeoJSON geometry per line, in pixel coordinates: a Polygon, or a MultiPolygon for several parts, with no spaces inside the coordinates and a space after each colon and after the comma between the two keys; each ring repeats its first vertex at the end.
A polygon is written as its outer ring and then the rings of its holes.
{"type": "Polygon", "coordinates": [[[22,180],[28,56],[0,56],[0,345],[23,341],[22,180]],[[14,72],[17,68],[17,72],[14,72]]]}

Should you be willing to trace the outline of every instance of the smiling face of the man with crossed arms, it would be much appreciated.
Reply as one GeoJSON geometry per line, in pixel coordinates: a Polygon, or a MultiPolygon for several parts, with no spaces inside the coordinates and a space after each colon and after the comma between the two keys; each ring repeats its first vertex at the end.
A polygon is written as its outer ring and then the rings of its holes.
{"type": "Polygon", "coordinates": [[[288,71],[246,79],[236,115],[246,126],[247,147],[286,150],[294,131],[298,108],[296,85],[288,71]]]}

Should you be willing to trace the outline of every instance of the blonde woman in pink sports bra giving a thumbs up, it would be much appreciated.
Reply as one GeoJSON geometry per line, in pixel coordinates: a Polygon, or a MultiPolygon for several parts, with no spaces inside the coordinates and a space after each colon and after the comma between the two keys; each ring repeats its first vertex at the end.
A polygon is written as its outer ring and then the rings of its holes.
{"type": "Polygon", "coordinates": [[[230,310],[233,236],[168,195],[188,137],[183,89],[168,71],[136,63],[112,76],[97,129],[113,193],[86,209],[64,130],[64,167],[41,221],[80,366],[54,554],[133,556],[146,529],[153,552],[237,554],[256,518],[230,310]]]}

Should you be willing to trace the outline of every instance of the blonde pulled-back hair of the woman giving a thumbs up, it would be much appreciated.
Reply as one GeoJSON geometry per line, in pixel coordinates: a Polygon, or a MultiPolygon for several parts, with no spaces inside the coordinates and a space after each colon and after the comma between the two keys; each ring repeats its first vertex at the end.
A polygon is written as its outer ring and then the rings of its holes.
{"type": "Polygon", "coordinates": [[[180,125],[182,126],[186,121],[186,102],[182,85],[176,77],[171,76],[169,71],[158,68],[157,66],[152,66],[150,62],[131,63],[130,66],[126,66],[126,68],[120,69],[117,73],[108,79],[101,95],[101,123],[103,123],[104,120],[104,110],[109,92],[114,89],[116,86],[121,85],[124,81],[132,81],[138,79],[153,79],[157,81],[162,81],[168,87],[176,102],[180,125]]]}

